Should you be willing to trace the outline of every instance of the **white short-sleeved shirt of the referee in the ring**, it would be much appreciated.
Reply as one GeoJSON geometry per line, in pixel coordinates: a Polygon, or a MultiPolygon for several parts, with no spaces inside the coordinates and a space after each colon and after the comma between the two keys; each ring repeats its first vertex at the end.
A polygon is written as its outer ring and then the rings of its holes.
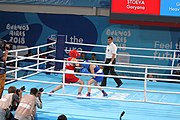
{"type": "MultiPolygon", "coordinates": [[[[116,54],[117,47],[116,45],[112,42],[111,44],[107,45],[106,47],[106,59],[112,58],[113,54],[116,54]]],[[[116,56],[115,56],[116,58],[116,56]]]]}

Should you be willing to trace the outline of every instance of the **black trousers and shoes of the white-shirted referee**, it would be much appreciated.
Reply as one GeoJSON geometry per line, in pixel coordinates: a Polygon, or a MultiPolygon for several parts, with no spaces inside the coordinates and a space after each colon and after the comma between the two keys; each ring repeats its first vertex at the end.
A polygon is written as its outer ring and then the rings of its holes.
{"type": "MultiPolygon", "coordinates": [[[[110,61],[111,61],[111,58],[106,59],[105,64],[109,64],[110,61]]],[[[115,64],[115,63],[116,63],[116,60],[114,59],[112,64],[115,64]]],[[[114,66],[104,66],[103,72],[104,72],[104,75],[108,75],[109,72],[110,72],[111,75],[116,75],[117,76],[116,72],[114,71],[114,66]]],[[[114,78],[114,80],[117,83],[116,87],[120,87],[123,84],[122,81],[119,78],[114,78]]],[[[104,79],[103,79],[100,86],[106,86],[106,83],[107,83],[107,77],[104,77],[104,79]]]]}

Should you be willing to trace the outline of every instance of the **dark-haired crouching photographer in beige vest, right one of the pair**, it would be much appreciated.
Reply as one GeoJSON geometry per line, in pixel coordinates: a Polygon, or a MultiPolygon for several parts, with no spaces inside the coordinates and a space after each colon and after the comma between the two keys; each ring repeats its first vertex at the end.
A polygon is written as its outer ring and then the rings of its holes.
{"type": "Polygon", "coordinates": [[[18,108],[15,112],[17,120],[34,120],[36,116],[36,106],[42,109],[41,94],[43,88],[31,88],[30,95],[26,94],[21,98],[18,108]]]}

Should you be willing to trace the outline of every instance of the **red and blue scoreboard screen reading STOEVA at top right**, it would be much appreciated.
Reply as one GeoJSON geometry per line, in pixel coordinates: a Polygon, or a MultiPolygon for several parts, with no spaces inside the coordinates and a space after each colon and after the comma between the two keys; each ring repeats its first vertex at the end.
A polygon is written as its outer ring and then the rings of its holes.
{"type": "Polygon", "coordinates": [[[180,27],[180,0],[111,0],[110,21],[180,27]]]}

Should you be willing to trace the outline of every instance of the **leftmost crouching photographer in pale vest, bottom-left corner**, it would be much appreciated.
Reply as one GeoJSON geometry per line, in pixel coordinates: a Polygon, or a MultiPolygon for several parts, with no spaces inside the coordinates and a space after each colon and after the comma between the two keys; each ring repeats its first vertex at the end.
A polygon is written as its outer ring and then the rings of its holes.
{"type": "Polygon", "coordinates": [[[22,90],[18,91],[15,86],[10,86],[8,88],[8,94],[5,94],[0,99],[0,120],[12,120],[14,118],[11,111],[13,111],[13,108],[16,108],[18,103],[20,102],[21,96],[22,96],[22,90]]]}

